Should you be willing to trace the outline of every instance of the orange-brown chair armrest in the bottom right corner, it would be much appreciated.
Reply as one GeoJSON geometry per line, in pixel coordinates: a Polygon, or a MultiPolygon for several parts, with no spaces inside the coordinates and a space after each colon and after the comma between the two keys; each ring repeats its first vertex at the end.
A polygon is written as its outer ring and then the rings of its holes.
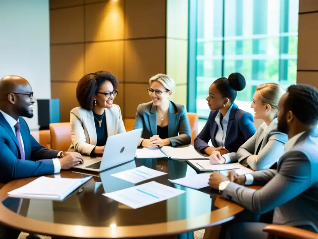
{"type": "Polygon", "coordinates": [[[268,224],[264,229],[268,233],[267,239],[272,239],[274,236],[280,236],[290,239],[317,239],[318,233],[306,231],[304,229],[295,228],[286,225],[268,224]]]}

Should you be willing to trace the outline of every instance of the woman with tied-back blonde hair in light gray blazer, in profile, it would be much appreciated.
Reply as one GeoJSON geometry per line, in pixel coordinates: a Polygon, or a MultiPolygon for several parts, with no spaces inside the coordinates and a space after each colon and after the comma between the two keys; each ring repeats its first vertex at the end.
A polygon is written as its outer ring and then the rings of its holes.
{"type": "Polygon", "coordinates": [[[277,131],[277,112],[280,97],[285,93],[276,83],[265,83],[256,87],[251,107],[254,118],[264,121],[256,133],[247,140],[236,153],[223,156],[214,151],[212,163],[233,163],[251,167],[253,170],[265,170],[275,164],[284,153],[287,134],[277,131]]]}

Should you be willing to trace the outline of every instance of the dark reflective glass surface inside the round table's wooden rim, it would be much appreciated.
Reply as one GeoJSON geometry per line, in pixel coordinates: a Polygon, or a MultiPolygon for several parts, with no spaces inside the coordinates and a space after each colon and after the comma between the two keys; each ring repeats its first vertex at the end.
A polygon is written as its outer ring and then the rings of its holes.
{"type": "MultiPolygon", "coordinates": [[[[70,177],[71,172],[62,172],[61,177],[70,177]]],[[[76,172],[73,172],[76,174],[76,172]]],[[[130,226],[175,221],[207,214],[214,207],[209,193],[174,185],[168,179],[177,179],[197,174],[184,161],[167,159],[135,159],[103,171],[63,201],[7,198],[3,205],[25,217],[40,221],[87,226],[130,226]],[[125,189],[135,184],[111,176],[114,173],[146,166],[167,174],[150,179],[164,185],[184,190],[185,193],[156,204],[132,209],[109,199],[103,193],[125,189]],[[24,210],[21,210],[24,208],[24,210]]],[[[79,174],[79,177],[88,177],[79,174]]],[[[139,184],[148,182],[143,181],[139,184]]],[[[209,192],[209,191],[207,191],[209,192]]]]}

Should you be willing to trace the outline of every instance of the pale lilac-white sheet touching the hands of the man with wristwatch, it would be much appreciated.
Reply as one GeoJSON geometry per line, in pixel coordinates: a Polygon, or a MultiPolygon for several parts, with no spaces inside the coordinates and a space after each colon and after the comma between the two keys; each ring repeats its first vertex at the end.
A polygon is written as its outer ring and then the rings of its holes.
{"type": "Polygon", "coordinates": [[[199,173],[197,175],[191,175],[189,177],[183,177],[175,180],[169,179],[173,184],[185,186],[192,189],[200,189],[208,187],[209,178],[211,173],[199,173]]]}

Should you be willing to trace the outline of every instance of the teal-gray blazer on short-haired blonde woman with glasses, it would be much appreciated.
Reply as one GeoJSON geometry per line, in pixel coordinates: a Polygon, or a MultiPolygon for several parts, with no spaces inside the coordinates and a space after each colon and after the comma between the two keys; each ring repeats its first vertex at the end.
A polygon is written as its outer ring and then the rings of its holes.
{"type": "MultiPolygon", "coordinates": [[[[191,127],[184,105],[169,102],[168,136],[171,146],[191,143],[191,127]],[[180,134],[180,135],[178,135],[180,134]]],[[[149,139],[157,135],[157,109],[152,102],[137,107],[134,129],[143,129],[142,138],[149,139]]]]}

